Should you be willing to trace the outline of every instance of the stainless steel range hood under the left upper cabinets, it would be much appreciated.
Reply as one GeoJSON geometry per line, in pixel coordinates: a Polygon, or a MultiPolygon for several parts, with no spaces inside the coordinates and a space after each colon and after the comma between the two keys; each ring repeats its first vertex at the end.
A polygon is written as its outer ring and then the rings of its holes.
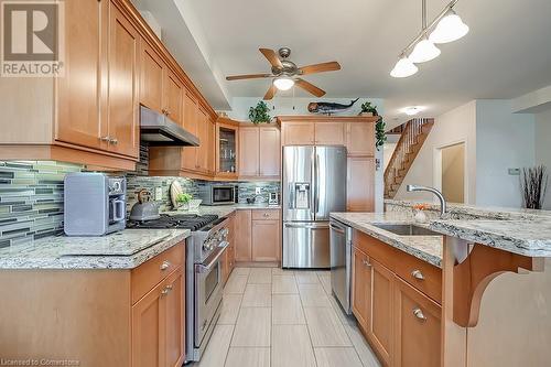
{"type": "Polygon", "coordinates": [[[169,117],[140,106],[140,140],[150,147],[198,147],[199,139],[169,117]]]}

